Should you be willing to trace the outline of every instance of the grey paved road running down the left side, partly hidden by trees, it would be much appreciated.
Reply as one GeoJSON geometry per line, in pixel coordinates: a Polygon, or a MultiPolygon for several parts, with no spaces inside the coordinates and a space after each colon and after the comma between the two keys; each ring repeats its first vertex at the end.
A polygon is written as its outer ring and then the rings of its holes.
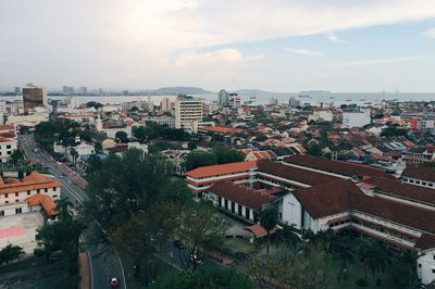
{"type": "MultiPolygon", "coordinates": [[[[86,183],[76,176],[70,167],[55,162],[46,151],[37,148],[33,135],[18,135],[18,142],[32,163],[40,163],[42,166],[49,167],[50,172],[62,184],[62,196],[67,197],[75,204],[80,204],[88,199],[84,190],[86,183]],[[37,152],[34,151],[36,148],[37,152]]],[[[85,242],[91,238],[87,234],[83,236],[85,242]]],[[[110,288],[109,279],[112,277],[120,279],[119,288],[126,288],[122,263],[116,254],[109,253],[109,250],[105,250],[101,244],[92,246],[88,249],[88,253],[92,289],[110,288]]]]}

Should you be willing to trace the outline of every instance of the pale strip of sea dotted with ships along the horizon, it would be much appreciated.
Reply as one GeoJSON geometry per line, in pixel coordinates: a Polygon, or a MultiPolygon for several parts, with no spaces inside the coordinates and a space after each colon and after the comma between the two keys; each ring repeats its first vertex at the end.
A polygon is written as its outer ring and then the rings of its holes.
{"type": "MultiPolygon", "coordinates": [[[[71,96],[76,105],[88,101],[97,101],[103,104],[119,104],[122,102],[148,101],[158,104],[162,99],[170,98],[175,100],[176,96],[71,96]]],[[[217,93],[195,95],[195,98],[202,99],[206,103],[217,100],[217,93]]],[[[304,92],[250,92],[239,93],[241,102],[268,104],[276,99],[278,103],[288,103],[289,99],[300,100],[301,104],[320,105],[327,103],[333,106],[341,104],[358,104],[360,106],[372,105],[383,100],[396,101],[435,101],[435,92],[328,92],[328,91],[304,91],[304,92]]],[[[61,100],[67,97],[49,96],[49,99],[61,100]]],[[[17,97],[0,96],[0,100],[18,100],[17,97]]]]}

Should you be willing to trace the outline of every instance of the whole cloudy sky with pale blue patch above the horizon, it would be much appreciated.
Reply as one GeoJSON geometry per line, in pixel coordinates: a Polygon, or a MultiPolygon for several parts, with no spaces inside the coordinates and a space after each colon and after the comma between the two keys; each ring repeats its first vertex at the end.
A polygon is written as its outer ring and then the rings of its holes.
{"type": "Polygon", "coordinates": [[[0,88],[435,92],[434,0],[1,0],[0,88]]]}

